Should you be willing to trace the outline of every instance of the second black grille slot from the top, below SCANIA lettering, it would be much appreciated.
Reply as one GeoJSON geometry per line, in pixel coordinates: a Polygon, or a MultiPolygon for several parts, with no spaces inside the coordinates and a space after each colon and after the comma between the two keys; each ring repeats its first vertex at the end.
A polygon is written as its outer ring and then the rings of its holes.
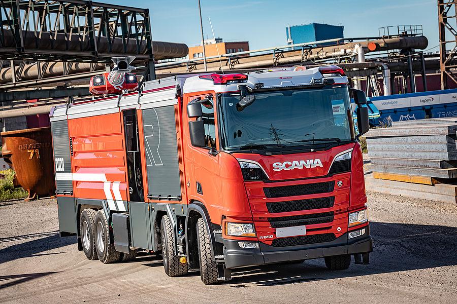
{"type": "Polygon", "coordinates": [[[267,203],[270,213],[292,212],[333,207],[335,197],[267,203]]]}

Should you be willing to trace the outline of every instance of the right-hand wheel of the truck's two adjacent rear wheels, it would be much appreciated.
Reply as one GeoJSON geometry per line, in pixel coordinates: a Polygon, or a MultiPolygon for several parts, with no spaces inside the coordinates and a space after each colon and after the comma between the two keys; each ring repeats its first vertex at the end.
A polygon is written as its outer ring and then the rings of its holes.
{"type": "Polygon", "coordinates": [[[110,228],[103,210],[97,211],[94,227],[95,249],[99,260],[104,264],[119,261],[120,252],[116,251],[114,244],[110,242],[110,228]]]}

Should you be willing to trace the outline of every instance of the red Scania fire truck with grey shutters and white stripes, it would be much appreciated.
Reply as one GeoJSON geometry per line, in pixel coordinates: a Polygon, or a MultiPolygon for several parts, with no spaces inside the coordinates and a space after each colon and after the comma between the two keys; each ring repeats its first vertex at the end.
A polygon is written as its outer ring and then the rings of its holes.
{"type": "Polygon", "coordinates": [[[203,73],[51,112],[61,236],[88,259],[161,254],[170,277],[369,262],[364,92],[338,66],[203,73]]]}

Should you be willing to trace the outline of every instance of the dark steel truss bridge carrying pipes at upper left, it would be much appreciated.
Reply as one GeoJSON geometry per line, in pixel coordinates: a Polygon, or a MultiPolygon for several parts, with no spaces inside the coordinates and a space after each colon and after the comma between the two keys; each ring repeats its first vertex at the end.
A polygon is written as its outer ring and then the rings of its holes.
{"type": "Polygon", "coordinates": [[[90,77],[111,57],[132,55],[148,67],[147,78],[155,78],[148,9],[82,0],[0,0],[0,24],[0,71],[10,79],[0,89],[72,79],[77,62],[88,64],[90,77]],[[61,62],[59,77],[44,77],[51,62],[61,62]]]}

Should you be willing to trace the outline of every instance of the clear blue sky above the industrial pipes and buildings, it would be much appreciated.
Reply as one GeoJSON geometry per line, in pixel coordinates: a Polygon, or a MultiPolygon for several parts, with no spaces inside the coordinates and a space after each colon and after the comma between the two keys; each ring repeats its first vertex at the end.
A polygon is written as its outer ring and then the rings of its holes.
{"type": "MultiPolygon", "coordinates": [[[[149,8],[154,40],[200,42],[197,0],[115,0],[149,8]]],[[[387,25],[422,24],[429,48],[438,46],[436,0],[201,0],[204,32],[225,41],[249,41],[250,49],[286,44],[285,27],[311,22],[342,24],[345,37],[377,36],[387,25]]],[[[438,48],[435,48],[438,50],[438,48]]]]}

